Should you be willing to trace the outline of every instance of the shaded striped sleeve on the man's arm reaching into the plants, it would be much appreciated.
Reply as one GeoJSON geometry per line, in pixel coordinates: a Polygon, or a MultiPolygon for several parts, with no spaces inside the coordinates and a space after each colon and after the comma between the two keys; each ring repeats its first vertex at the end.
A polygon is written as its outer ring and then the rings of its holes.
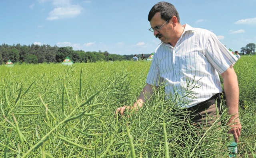
{"type": "Polygon", "coordinates": [[[146,83],[153,86],[160,85],[160,73],[159,73],[159,66],[157,64],[156,55],[154,55],[154,58],[152,60],[152,63],[148,72],[148,76],[146,79],[146,83]]]}

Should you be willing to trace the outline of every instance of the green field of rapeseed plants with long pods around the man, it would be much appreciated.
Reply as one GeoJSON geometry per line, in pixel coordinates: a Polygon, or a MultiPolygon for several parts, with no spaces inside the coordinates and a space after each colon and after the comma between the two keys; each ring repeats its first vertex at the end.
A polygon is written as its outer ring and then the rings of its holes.
{"type": "MultiPolygon", "coordinates": [[[[0,66],[0,157],[227,158],[227,127],[213,125],[203,137],[191,137],[200,129],[174,116],[176,103],[164,100],[163,88],[130,117],[114,117],[117,107],[136,100],[150,64],[0,66]]],[[[234,65],[242,123],[238,158],[256,157],[255,67],[256,56],[234,65]]]]}

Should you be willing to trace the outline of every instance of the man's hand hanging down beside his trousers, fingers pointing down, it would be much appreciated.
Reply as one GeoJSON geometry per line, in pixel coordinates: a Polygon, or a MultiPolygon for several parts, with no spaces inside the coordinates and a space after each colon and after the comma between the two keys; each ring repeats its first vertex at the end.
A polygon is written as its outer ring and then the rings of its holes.
{"type": "Polygon", "coordinates": [[[228,133],[232,133],[234,136],[235,142],[238,142],[238,137],[241,136],[241,130],[242,130],[239,116],[232,115],[228,120],[228,125],[230,127],[230,130],[228,131],[228,133]]]}

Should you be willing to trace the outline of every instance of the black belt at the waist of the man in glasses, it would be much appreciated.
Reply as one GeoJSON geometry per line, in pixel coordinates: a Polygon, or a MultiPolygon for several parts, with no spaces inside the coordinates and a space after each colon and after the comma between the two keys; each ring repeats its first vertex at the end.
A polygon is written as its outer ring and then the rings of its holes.
{"type": "Polygon", "coordinates": [[[203,102],[201,102],[199,104],[196,104],[196,105],[194,105],[192,107],[187,108],[187,111],[192,111],[194,113],[203,111],[204,109],[207,109],[212,104],[214,104],[216,99],[217,99],[217,106],[220,107],[220,94],[217,93],[214,96],[212,96],[210,99],[207,99],[206,101],[203,101],[203,102]]]}

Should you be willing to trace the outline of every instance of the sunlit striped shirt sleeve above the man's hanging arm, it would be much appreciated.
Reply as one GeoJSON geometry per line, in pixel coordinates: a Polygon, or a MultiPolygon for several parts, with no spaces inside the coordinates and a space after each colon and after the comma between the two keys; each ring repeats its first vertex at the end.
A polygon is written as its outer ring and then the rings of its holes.
{"type": "Polygon", "coordinates": [[[206,43],[206,58],[219,74],[225,72],[230,65],[234,65],[238,60],[212,32],[210,32],[206,43]]]}

